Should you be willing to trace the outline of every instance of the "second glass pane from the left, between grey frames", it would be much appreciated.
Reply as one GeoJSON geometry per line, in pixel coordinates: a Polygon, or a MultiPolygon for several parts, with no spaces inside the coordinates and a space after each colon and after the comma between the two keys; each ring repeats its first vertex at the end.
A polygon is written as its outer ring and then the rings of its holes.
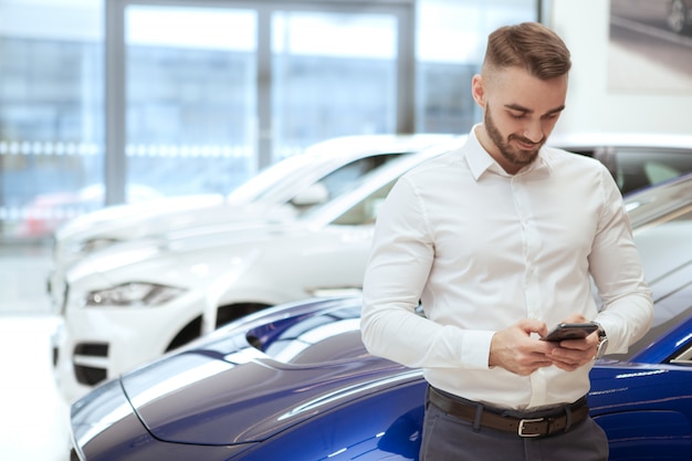
{"type": "Polygon", "coordinates": [[[258,14],[125,9],[126,187],[228,193],[256,155],[258,14]]]}

